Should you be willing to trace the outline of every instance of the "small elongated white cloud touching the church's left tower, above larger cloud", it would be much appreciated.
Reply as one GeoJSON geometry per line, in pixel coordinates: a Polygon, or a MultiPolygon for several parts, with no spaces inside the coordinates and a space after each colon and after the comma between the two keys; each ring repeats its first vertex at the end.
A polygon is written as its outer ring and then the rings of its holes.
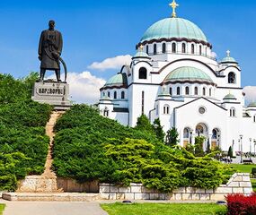
{"type": "Polygon", "coordinates": [[[100,71],[105,71],[107,69],[119,69],[124,64],[130,64],[131,57],[132,56],[129,55],[110,57],[102,62],[94,62],[93,64],[89,65],[88,68],[100,71]]]}

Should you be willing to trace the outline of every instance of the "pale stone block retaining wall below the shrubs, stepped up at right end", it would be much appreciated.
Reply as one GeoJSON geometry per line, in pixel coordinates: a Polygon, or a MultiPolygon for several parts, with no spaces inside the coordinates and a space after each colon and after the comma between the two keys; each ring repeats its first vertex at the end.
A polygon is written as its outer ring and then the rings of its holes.
{"type": "Polygon", "coordinates": [[[107,200],[225,200],[228,193],[252,193],[250,174],[235,173],[226,185],[216,189],[201,189],[196,187],[181,187],[172,193],[160,193],[147,189],[142,184],[131,184],[128,187],[118,187],[111,184],[100,184],[102,199],[107,200]]]}

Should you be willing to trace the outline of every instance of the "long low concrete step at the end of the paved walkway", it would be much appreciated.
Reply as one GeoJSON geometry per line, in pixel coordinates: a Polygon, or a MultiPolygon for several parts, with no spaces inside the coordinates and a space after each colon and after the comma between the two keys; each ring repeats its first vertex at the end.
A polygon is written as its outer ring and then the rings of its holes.
{"type": "Polygon", "coordinates": [[[93,202],[100,200],[99,193],[3,193],[8,201],[40,202],[93,202]]]}

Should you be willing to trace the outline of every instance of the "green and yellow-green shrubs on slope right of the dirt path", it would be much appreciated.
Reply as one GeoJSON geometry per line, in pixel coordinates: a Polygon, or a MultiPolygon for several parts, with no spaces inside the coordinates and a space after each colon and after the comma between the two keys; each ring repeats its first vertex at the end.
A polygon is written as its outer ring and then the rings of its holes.
{"type": "Polygon", "coordinates": [[[233,173],[210,157],[166,146],[154,133],[119,125],[85,105],[68,110],[55,130],[57,176],[78,182],[143,183],[170,192],[178,186],[214,188],[233,173]]]}

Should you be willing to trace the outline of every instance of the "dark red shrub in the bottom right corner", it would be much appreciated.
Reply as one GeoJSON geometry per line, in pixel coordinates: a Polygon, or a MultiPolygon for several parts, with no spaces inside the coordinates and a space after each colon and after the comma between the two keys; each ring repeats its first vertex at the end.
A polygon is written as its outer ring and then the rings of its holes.
{"type": "Polygon", "coordinates": [[[229,194],[226,196],[228,215],[255,215],[256,194],[250,196],[243,194],[229,194]]]}

